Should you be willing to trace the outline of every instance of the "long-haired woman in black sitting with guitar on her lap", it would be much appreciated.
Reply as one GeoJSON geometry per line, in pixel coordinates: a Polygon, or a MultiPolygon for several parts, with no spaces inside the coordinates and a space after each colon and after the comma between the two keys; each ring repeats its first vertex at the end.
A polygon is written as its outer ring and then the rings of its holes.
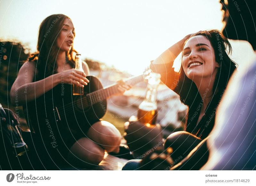
{"type": "MultiPolygon", "coordinates": [[[[61,159],[60,162],[80,167],[98,165],[103,160],[105,151],[119,151],[121,134],[116,127],[98,119],[93,124],[84,120],[84,123],[80,123],[82,127],[77,130],[62,128],[52,122],[46,113],[45,105],[51,102],[49,96],[53,100],[58,97],[56,90],[62,93],[59,96],[68,96],[72,92],[72,84],[84,87],[89,83],[86,76],[90,72],[85,62],[84,72],[74,69],[74,37],[75,29],[68,16],[56,14],[44,19],[39,29],[37,52],[20,68],[12,85],[11,101],[12,104],[23,105],[25,108],[31,103],[36,105],[30,106],[35,113],[28,117],[35,117],[37,122],[28,125],[33,127],[38,141],[41,140],[40,148],[45,147],[53,164],[61,159]]],[[[120,91],[123,90],[124,86],[120,86],[120,91]]],[[[63,100],[66,99],[65,96],[63,100]]],[[[69,116],[72,112],[65,114],[69,116]]],[[[67,120],[67,124],[77,125],[76,118],[67,120]]]]}

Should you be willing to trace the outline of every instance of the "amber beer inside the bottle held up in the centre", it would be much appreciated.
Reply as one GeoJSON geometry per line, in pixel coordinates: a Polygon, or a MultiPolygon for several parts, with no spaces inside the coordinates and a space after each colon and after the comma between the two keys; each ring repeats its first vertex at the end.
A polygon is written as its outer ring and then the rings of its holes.
{"type": "Polygon", "coordinates": [[[140,104],[138,110],[138,119],[141,123],[156,124],[157,107],[154,104],[140,104]]]}

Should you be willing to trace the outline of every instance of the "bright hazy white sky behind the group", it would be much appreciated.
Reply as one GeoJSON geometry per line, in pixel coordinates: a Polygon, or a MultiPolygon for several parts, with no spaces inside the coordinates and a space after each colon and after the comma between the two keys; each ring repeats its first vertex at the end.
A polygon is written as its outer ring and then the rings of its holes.
{"type": "MultiPolygon", "coordinates": [[[[222,28],[218,0],[0,0],[0,39],[28,43],[35,51],[40,23],[58,13],[72,19],[74,48],[83,57],[132,74],[141,74],[150,60],[185,35],[222,28]]],[[[233,54],[239,63],[252,50],[239,42],[233,54]]]]}

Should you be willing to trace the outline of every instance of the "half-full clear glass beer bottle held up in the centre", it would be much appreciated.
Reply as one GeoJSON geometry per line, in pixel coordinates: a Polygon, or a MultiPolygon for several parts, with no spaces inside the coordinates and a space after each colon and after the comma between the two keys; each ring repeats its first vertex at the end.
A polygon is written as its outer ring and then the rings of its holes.
{"type": "Polygon", "coordinates": [[[156,95],[160,83],[160,74],[150,73],[146,97],[139,105],[138,119],[141,123],[155,125],[157,115],[156,95]]]}

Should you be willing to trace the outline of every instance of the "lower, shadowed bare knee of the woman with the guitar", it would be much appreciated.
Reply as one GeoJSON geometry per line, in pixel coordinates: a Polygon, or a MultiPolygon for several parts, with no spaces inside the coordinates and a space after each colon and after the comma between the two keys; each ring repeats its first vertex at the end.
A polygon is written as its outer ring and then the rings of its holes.
{"type": "Polygon", "coordinates": [[[76,166],[87,167],[98,165],[104,158],[104,149],[91,139],[80,138],[70,148],[68,159],[76,166]]]}

